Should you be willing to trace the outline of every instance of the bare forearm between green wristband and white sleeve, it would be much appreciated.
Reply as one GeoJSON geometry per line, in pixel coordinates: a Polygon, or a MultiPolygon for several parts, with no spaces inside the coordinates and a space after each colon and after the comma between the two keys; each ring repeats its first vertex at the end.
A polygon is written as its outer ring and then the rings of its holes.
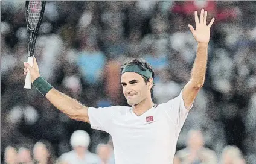
{"type": "Polygon", "coordinates": [[[51,89],[46,95],[46,98],[61,112],[65,113],[72,119],[89,122],[86,118],[88,107],[83,106],[77,100],[59,92],[56,89],[51,89]]]}

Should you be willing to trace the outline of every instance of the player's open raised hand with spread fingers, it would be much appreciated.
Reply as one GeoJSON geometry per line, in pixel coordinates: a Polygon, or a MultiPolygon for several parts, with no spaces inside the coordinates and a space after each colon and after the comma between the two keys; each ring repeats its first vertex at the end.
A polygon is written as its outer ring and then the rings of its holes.
{"type": "Polygon", "coordinates": [[[194,11],[194,20],[196,22],[196,30],[192,25],[188,25],[190,30],[198,43],[209,43],[210,40],[210,28],[213,25],[214,18],[206,25],[207,11],[201,10],[200,19],[198,18],[197,11],[194,11]]]}

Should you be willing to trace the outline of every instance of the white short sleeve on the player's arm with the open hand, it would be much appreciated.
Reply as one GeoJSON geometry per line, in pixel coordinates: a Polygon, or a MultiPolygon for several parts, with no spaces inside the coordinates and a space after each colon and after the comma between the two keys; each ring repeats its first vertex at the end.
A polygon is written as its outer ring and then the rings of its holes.
{"type": "Polygon", "coordinates": [[[184,104],[184,100],[182,98],[182,91],[179,93],[179,96],[169,100],[167,103],[162,104],[164,106],[165,112],[167,113],[170,121],[173,122],[179,129],[184,125],[185,120],[187,119],[189,110],[184,104]]]}

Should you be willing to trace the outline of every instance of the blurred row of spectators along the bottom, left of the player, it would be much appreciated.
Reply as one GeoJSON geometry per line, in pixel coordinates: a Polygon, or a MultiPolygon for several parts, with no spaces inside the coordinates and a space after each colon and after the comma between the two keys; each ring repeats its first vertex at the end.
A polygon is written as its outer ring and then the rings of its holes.
{"type": "Polygon", "coordinates": [[[8,164],[69,164],[69,163],[92,163],[92,164],[114,164],[114,151],[112,141],[107,144],[98,144],[96,153],[88,151],[90,143],[89,134],[84,130],[76,130],[71,135],[71,151],[56,157],[53,145],[47,140],[39,140],[34,145],[7,146],[4,151],[4,162],[8,164]],[[32,147],[31,147],[32,146],[32,147]]]}

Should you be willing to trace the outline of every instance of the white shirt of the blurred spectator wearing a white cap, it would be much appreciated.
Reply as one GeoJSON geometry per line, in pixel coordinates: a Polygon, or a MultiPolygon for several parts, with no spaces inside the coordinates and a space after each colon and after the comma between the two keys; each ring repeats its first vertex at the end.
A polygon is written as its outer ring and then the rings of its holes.
{"type": "Polygon", "coordinates": [[[60,161],[66,162],[67,164],[101,164],[102,163],[100,157],[98,157],[97,154],[94,154],[88,151],[85,154],[85,158],[80,159],[74,150],[62,154],[62,156],[60,156],[60,161]]]}

